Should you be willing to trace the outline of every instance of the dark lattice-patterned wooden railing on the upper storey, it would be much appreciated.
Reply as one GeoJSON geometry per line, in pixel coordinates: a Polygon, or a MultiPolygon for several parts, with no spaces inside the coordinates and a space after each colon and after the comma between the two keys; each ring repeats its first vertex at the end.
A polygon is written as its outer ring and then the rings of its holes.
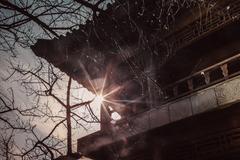
{"type": "Polygon", "coordinates": [[[166,38],[166,41],[171,43],[176,51],[192,41],[238,20],[239,17],[240,0],[232,0],[223,6],[215,7],[214,12],[206,13],[178,32],[174,32],[166,38]]]}

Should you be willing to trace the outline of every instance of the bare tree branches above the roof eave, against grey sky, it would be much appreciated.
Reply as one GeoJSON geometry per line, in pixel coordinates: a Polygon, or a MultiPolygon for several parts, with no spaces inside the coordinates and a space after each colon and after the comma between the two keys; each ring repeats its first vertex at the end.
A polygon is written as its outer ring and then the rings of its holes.
{"type": "Polygon", "coordinates": [[[29,47],[38,38],[59,38],[103,11],[106,0],[0,1],[0,49],[29,47]]]}

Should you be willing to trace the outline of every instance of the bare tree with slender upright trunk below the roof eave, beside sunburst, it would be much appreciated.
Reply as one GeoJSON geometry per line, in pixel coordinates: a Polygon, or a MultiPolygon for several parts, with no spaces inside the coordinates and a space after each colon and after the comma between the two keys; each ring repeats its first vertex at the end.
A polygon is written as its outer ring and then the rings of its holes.
{"type": "MultiPolygon", "coordinates": [[[[99,123],[98,117],[94,114],[90,104],[94,100],[83,101],[72,93],[82,88],[81,85],[72,84],[72,78],[69,77],[67,84],[64,84],[64,74],[53,68],[50,64],[42,64],[39,61],[36,68],[26,68],[21,64],[11,62],[12,73],[6,80],[13,76],[18,76],[18,82],[26,89],[26,93],[36,102],[34,106],[23,107],[16,106],[16,99],[13,90],[10,89],[11,97],[1,94],[1,112],[0,121],[5,131],[2,134],[3,142],[2,156],[6,159],[10,157],[21,157],[22,159],[49,158],[65,155],[65,140],[54,135],[59,126],[65,126],[67,130],[66,149],[67,155],[71,156],[72,151],[72,128],[82,127],[87,130],[85,124],[99,123]],[[62,92],[59,93],[58,91],[62,92]],[[45,98],[45,100],[43,100],[45,98]],[[42,103],[45,101],[45,103],[42,103]],[[53,105],[58,106],[59,111],[53,113],[53,105]],[[78,108],[84,108],[84,114],[79,114],[78,108]],[[89,114],[87,114],[87,112],[89,114]],[[8,117],[7,113],[16,114],[17,118],[8,117]],[[23,119],[25,117],[25,120],[23,119]],[[27,118],[26,118],[27,117],[27,118]],[[44,137],[39,136],[37,128],[31,123],[33,119],[45,119],[54,126],[44,137]],[[73,123],[73,124],[72,124],[73,123]],[[19,147],[14,143],[16,132],[28,135],[26,144],[28,147],[19,147]],[[10,147],[13,145],[14,147],[10,147]],[[14,149],[12,149],[14,148],[14,149]],[[17,151],[16,151],[17,150],[17,151]]],[[[16,77],[15,77],[16,78],[16,77]]],[[[15,78],[13,79],[15,81],[15,78]]],[[[65,76],[66,79],[66,76],[65,76]]]]}

